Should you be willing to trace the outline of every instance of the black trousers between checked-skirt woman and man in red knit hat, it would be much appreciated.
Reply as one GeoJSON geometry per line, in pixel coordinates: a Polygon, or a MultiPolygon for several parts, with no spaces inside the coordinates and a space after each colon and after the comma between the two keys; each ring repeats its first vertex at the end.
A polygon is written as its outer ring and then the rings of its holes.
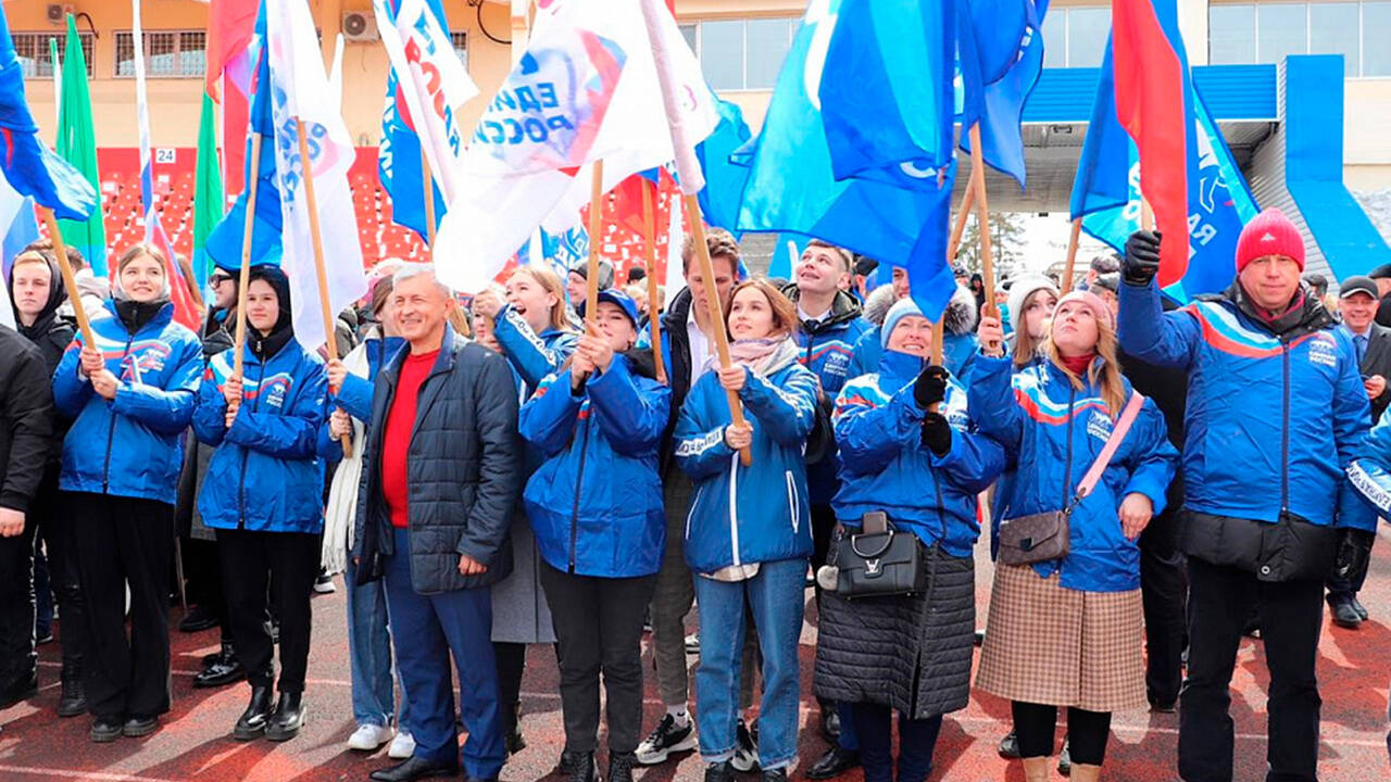
{"type": "Polygon", "coordinates": [[[1178,509],[1155,516],[1139,536],[1139,589],[1145,607],[1145,689],[1173,704],[1184,682],[1188,573],[1178,551],[1178,509]]]}

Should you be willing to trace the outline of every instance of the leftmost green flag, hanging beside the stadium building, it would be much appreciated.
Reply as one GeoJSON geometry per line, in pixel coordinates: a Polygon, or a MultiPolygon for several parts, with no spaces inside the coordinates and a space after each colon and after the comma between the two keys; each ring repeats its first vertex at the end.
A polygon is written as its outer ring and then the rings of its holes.
{"type": "MultiPolygon", "coordinates": [[[[68,14],[68,40],[63,56],[63,103],[58,106],[58,156],[71,163],[102,192],[102,177],[96,170],[96,132],[92,129],[92,96],[86,85],[86,57],[78,25],[68,14]]],[[[86,221],[58,220],[63,241],[77,248],[92,264],[95,274],[106,274],[106,225],[97,209],[86,221]]]]}

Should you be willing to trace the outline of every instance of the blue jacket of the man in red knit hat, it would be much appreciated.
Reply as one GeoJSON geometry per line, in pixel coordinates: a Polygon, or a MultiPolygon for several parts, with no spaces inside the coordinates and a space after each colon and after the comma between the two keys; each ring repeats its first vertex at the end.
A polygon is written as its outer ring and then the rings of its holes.
{"type": "MultiPolygon", "coordinates": [[[[1157,288],[1121,285],[1121,348],[1188,372],[1184,506],[1274,523],[1338,519],[1344,469],[1372,426],[1356,353],[1331,317],[1281,338],[1230,298],[1164,313],[1157,288]]],[[[1367,529],[1376,529],[1374,525],[1367,529]]]]}

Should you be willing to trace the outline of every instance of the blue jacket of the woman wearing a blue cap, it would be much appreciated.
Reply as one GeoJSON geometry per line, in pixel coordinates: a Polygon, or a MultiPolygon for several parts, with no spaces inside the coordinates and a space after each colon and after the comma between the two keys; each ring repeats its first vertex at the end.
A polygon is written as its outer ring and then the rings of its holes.
{"type": "Polygon", "coordinates": [[[558,570],[634,577],[662,566],[657,449],[672,392],[634,370],[616,355],[574,397],[566,369],[522,406],[522,437],[545,458],[522,497],[541,557],[558,570]]]}

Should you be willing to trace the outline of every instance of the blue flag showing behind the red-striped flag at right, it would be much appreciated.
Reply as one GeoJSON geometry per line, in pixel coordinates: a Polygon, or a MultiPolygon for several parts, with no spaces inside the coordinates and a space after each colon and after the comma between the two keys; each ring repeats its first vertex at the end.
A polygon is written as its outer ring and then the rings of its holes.
{"type": "MultiPolygon", "coordinates": [[[[1188,161],[1188,271],[1182,280],[1164,288],[1166,294],[1181,302],[1200,294],[1223,291],[1231,284],[1235,270],[1232,259],[1237,257],[1237,238],[1241,235],[1242,225],[1259,212],[1256,199],[1252,198],[1246,179],[1242,177],[1241,168],[1237,167],[1221,131],[1212,114],[1207,113],[1207,106],[1196,86],[1191,103],[1193,106],[1196,154],[1188,161]]],[[[1114,104],[1111,117],[1114,117],[1114,104]]],[[[1085,177],[1082,167],[1079,167],[1078,182],[1096,181],[1111,186],[1114,186],[1114,181],[1124,184],[1125,191],[1120,206],[1088,212],[1082,218],[1082,230],[1120,252],[1125,246],[1125,239],[1139,230],[1139,153],[1129,142],[1129,136],[1118,129],[1118,125],[1111,136],[1128,143],[1109,143],[1103,147],[1106,154],[1111,156],[1097,161],[1099,168],[1104,168],[1104,177],[1085,177]],[[1116,146],[1123,149],[1117,153],[1116,146]]],[[[1091,138],[1092,131],[1088,129],[1088,139],[1091,138]]],[[[1103,203],[1106,199],[1114,198],[1110,191],[1086,193],[1074,189],[1074,209],[1078,203],[1086,205],[1088,195],[1092,196],[1092,203],[1103,203]]]]}

